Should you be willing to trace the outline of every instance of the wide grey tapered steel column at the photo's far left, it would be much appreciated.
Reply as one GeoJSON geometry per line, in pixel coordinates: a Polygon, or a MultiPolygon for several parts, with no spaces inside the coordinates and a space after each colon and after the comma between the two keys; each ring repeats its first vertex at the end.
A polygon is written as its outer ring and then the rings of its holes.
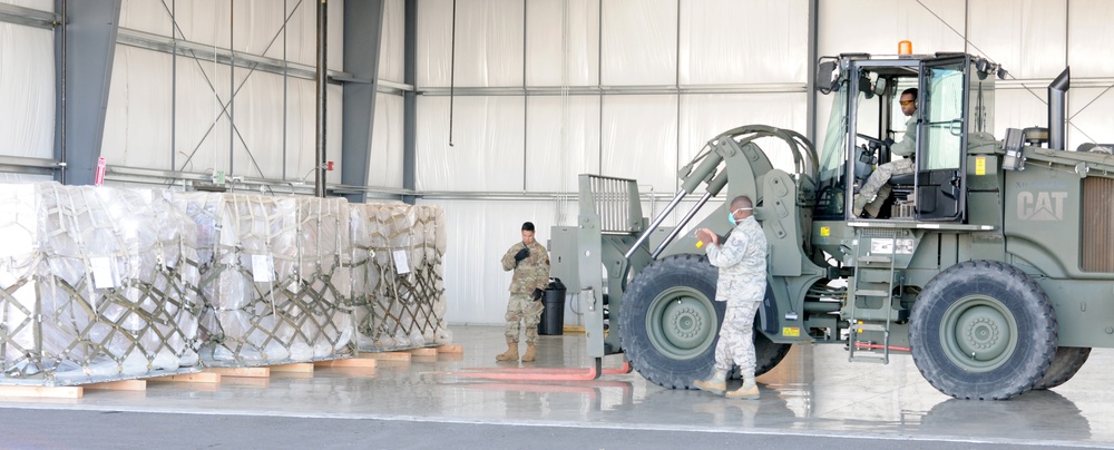
{"type": "Polygon", "coordinates": [[[55,179],[92,184],[105,136],[121,0],[55,0],[55,179]]]}

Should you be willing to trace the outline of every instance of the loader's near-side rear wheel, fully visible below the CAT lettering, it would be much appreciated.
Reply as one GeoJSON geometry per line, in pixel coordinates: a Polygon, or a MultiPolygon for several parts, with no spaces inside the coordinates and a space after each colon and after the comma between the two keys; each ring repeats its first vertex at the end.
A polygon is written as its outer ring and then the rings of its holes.
{"type": "Polygon", "coordinates": [[[925,285],[909,319],[912,359],[957,399],[1005,400],[1033,388],[1056,353],[1048,296],[1007,264],[956,264],[925,285]]]}

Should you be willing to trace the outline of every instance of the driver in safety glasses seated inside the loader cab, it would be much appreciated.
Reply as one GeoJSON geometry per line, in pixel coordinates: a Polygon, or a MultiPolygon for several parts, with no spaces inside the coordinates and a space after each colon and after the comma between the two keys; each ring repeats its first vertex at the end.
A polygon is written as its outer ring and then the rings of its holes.
{"type": "Polygon", "coordinates": [[[909,118],[906,121],[906,135],[897,144],[893,144],[892,140],[887,140],[890,143],[890,154],[900,155],[905,158],[882,164],[874,169],[874,173],[870,174],[867,184],[862,185],[859,193],[854,195],[854,207],[851,212],[856,217],[862,215],[863,208],[867,209],[867,213],[871,217],[878,217],[879,209],[882,208],[882,203],[889,196],[888,194],[878,195],[878,189],[895,175],[906,175],[913,172],[912,156],[917,151],[917,118],[913,117],[917,114],[917,88],[903,90],[901,92],[900,105],[901,113],[909,118]]]}

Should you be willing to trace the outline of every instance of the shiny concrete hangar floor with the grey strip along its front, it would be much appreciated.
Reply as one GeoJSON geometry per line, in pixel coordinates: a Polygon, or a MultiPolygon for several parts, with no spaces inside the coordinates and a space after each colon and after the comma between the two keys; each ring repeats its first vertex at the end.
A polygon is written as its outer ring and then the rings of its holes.
{"type": "Polygon", "coordinates": [[[759,378],[761,400],[741,401],[663,389],[637,372],[529,380],[587,368],[584,336],[541,336],[536,362],[507,364],[495,362],[501,327],[450,330],[462,354],[378,361],[373,371],[0,397],[0,448],[1114,448],[1110,350],[1093,351],[1055,390],[980,402],[937,392],[908,355],[849,363],[839,345],[798,345],[759,378]]]}

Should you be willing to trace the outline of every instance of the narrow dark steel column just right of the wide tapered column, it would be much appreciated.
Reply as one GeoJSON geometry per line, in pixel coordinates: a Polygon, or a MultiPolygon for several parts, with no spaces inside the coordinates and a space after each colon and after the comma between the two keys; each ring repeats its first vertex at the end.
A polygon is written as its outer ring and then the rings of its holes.
{"type": "MultiPolygon", "coordinates": [[[[413,87],[402,94],[402,188],[418,190],[418,0],[405,0],[403,32],[403,82],[413,87]]],[[[413,205],[413,195],[402,200],[413,205]]]]}

